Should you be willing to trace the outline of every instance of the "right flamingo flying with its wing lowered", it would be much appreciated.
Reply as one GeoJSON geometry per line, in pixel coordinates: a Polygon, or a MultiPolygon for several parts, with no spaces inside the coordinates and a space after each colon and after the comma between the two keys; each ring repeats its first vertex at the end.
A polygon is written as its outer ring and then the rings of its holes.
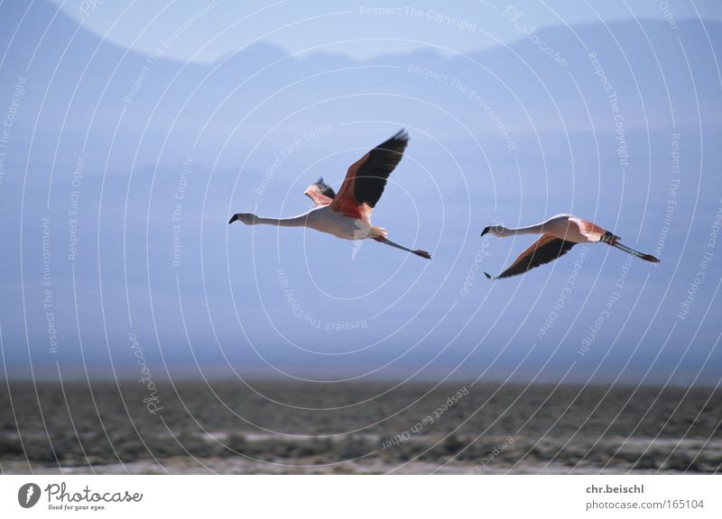
{"type": "Polygon", "coordinates": [[[493,225],[486,227],[481,235],[491,232],[495,236],[505,238],[506,236],[515,236],[516,234],[542,234],[542,238],[536,241],[529,249],[524,250],[519,258],[514,260],[507,269],[498,276],[489,276],[486,278],[498,279],[509,278],[517,274],[523,274],[527,270],[539,267],[544,263],[549,263],[554,259],[563,256],[577,243],[597,243],[601,241],[617,249],[624,250],[628,254],[632,254],[637,258],[645,261],[659,263],[660,260],[651,254],[643,254],[638,250],[630,249],[622,245],[619,236],[612,234],[599,227],[596,223],[589,222],[574,216],[573,214],[558,214],[552,216],[549,220],[529,227],[519,227],[518,229],[507,229],[503,225],[493,225]]]}

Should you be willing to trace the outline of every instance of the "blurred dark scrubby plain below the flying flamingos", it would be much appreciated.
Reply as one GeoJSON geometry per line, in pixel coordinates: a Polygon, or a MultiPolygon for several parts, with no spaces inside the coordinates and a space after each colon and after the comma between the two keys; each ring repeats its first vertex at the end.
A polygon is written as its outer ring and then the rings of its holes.
{"type": "Polygon", "coordinates": [[[0,469],[719,472],[720,419],[709,387],[3,381],[0,469]]]}

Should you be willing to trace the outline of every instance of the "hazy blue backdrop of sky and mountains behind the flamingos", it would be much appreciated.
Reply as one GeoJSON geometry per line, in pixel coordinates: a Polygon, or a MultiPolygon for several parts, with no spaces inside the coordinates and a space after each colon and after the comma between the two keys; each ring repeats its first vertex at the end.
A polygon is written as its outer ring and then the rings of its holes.
{"type": "Polygon", "coordinates": [[[0,5],[8,377],[717,384],[717,3],[163,7],[0,5]],[[374,222],[431,261],[227,226],[401,127],[374,222]],[[662,263],[483,277],[559,213],[662,263]]]}

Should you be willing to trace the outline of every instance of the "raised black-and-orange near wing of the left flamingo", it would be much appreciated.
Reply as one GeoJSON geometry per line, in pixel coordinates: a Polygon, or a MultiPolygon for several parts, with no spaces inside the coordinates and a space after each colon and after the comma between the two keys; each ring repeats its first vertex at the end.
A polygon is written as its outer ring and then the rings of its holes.
{"type": "Polygon", "coordinates": [[[401,161],[408,142],[409,134],[402,129],[351,164],[331,208],[356,217],[362,213],[362,205],[368,206],[366,211],[374,208],[384,193],[386,179],[401,161]]]}

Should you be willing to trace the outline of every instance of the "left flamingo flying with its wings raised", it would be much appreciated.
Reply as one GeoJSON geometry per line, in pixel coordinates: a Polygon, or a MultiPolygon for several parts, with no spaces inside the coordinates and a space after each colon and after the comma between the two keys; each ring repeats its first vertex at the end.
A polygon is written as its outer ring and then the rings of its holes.
{"type": "Polygon", "coordinates": [[[386,230],[371,223],[371,212],[384,193],[386,179],[401,161],[408,142],[409,135],[402,129],[356,160],[348,168],[338,195],[323,178],[319,178],[318,182],[304,191],[304,195],[309,196],[314,205],[304,214],[292,218],[262,218],[251,213],[237,213],[228,224],[238,220],[246,225],[265,223],[280,227],[310,227],[344,240],[370,238],[412,252],[421,258],[431,259],[426,250],[408,249],[388,240],[386,230]]]}

